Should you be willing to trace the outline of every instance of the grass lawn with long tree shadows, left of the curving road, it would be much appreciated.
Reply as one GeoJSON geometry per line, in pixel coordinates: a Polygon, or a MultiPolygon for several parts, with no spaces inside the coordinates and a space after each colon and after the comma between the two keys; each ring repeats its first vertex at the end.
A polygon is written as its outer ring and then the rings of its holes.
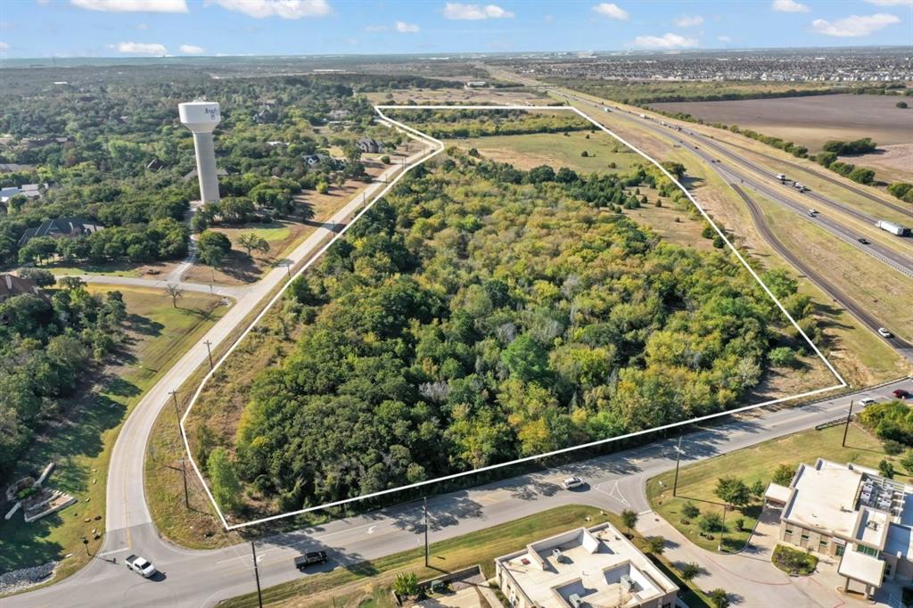
{"type": "MultiPolygon", "coordinates": [[[[102,293],[110,287],[89,285],[102,293]]],[[[101,540],[91,540],[92,529],[105,529],[105,485],[110,451],[131,409],[140,402],[156,379],[170,368],[184,351],[199,340],[226,307],[219,298],[204,293],[184,294],[174,309],[161,290],[117,288],[127,305],[130,343],[124,361],[111,366],[100,378],[100,390],[66,404],[61,422],[44,430],[19,466],[16,479],[40,471],[50,461],[57,469],[49,485],[79,498],[79,503],[26,524],[21,514],[8,521],[0,519],[0,572],[62,561],[58,580],[89,559],[82,538],[89,538],[89,550],[97,552],[101,540]],[[89,519],[89,522],[84,519],[89,519]]]]}

